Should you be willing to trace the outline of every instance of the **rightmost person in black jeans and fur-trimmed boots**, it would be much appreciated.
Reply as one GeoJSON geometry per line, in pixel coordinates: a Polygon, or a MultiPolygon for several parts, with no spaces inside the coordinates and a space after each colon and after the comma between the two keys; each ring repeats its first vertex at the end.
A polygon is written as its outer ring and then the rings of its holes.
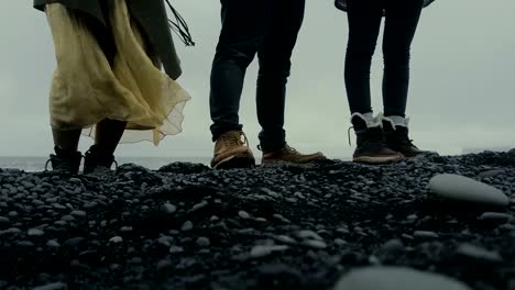
{"type": "Polygon", "coordinates": [[[409,140],[405,113],[410,45],[421,10],[430,2],[432,0],[336,1],[338,8],[347,11],[349,20],[344,79],[358,143],[354,161],[387,163],[425,153],[409,140]],[[374,118],[370,70],[383,16],[384,114],[374,118]]]}

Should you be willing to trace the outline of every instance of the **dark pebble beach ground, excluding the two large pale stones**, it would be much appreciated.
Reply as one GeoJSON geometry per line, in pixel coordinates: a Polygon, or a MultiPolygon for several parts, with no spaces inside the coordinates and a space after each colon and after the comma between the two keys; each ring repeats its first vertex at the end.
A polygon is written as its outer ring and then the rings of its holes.
{"type": "Polygon", "coordinates": [[[388,265],[515,289],[515,156],[0,172],[0,289],[320,290],[388,265]],[[428,189],[445,172],[511,204],[448,202],[428,189]]]}

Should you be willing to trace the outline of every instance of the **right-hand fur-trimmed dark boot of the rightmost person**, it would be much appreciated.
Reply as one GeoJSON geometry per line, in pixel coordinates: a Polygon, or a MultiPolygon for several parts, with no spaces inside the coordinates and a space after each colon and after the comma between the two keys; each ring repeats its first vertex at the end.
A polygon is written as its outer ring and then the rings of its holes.
{"type": "Polygon", "coordinates": [[[415,157],[429,153],[427,150],[419,149],[415,144],[413,144],[413,140],[408,137],[409,119],[397,115],[383,116],[382,123],[386,144],[393,150],[402,153],[405,157],[415,157]]]}

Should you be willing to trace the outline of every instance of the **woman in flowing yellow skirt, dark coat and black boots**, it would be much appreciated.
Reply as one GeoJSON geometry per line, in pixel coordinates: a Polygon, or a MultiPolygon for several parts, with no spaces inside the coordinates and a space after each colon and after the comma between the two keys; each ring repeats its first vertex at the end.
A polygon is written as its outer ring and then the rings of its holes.
{"type": "Polygon", "coordinates": [[[80,135],[95,138],[84,172],[109,170],[120,141],[182,131],[188,93],[163,0],[35,0],[52,31],[57,68],[50,93],[55,171],[77,174],[80,135]],[[164,67],[163,72],[161,67],[164,67]]]}

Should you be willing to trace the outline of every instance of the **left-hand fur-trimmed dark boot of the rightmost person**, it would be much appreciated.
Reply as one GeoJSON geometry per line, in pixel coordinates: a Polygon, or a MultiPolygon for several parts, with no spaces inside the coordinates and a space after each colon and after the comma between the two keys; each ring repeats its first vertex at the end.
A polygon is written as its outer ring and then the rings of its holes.
{"type": "Polygon", "coordinates": [[[402,160],[404,155],[393,150],[386,144],[381,123],[372,113],[354,113],[351,118],[357,135],[357,148],[352,161],[364,164],[387,164],[402,160]]]}

